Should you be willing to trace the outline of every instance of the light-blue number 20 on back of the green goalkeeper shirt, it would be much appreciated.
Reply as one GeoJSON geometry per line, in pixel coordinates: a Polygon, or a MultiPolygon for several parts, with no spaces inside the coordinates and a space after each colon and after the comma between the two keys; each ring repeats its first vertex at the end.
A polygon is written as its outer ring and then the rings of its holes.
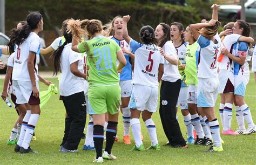
{"type": "Polygon", "coordinates": [[[104,59],[104,64],[105,64],[105,68],[107,70],[111,69],[112,66],[112,59],[111,59],[111,54],[110,54],[110,49],[109,47],[103,47],[102,49],[97,48],[94,50],[94,56],[96,57],[97,54],[99,53],[99,58],[96,62],[96,68],[98,71],[103,71],[103,67],[100,67],[100,63],[102,62],[102,59],[104,59]],[[107,60],[107,58],[109,58],[109,60],[107,60]]]}

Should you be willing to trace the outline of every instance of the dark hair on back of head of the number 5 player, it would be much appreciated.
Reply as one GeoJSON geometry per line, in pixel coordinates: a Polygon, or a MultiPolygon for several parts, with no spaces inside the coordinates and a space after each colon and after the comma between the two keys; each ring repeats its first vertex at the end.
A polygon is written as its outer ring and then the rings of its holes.
{"type": "Polygon", "coordinates": [[[139,31],[139,38],[140,40],[142,40],[143,44],[146,45],[157,45],[157,39],[154,36],[154,29],[147,25],[147,26],[143,26],[142,29],[140,29],[139,31]]]}

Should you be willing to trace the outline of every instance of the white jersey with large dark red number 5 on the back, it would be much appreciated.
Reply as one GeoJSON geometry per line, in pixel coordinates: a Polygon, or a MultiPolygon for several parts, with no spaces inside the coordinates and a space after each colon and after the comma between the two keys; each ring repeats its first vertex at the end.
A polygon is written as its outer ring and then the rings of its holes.
{"type": "Polygon", "coordinates": [[[130,47],[135,54],[132,84],[158,88],[158,68],[160,64],[164,64],[160,47],[143,45],[133,39],[130,41],[130,47]]]}

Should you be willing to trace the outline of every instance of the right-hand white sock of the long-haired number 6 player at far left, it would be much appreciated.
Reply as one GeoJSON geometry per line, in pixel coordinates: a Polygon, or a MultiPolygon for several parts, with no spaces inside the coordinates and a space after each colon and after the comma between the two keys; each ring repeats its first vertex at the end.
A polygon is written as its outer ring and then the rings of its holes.
{"type": "Polygon", "coordinates": [[[24,136],[24,140],[22,142],[22,147],[24,149],[28,149],[29,143],[33,137],[34,129],[36,127],[36,123],[39,119],[39,114],[32,113],[29,118],[28,126],[26,127],[26,134],[24,136]]]}

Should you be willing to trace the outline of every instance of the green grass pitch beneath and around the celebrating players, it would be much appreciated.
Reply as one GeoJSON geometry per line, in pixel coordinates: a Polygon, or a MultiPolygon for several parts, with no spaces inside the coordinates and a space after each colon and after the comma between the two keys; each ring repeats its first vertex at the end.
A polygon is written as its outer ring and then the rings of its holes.
{"type": "MultiPolygon", "coordinates": [[[[57,79],[49,79],[58,85],[57,79]]],[[[0,79],[0,91],[2,92],[3,79],[0,79]]],[[[46,86],[40,84],[41,91],[46,90],[46,86]]],[[[250,83],[246,88],[246,102],[250,106],[253,120],[256,122],[256,85],[254,84],[253,74],[250,83]]],[[[59,145],[62,142],[64,133],[65,109],[62,101],[58,100],[59,95],[53,95],[48,104],[42,109],[36,127],[37,140],[31,143],[31,148],[38,151],[36,154],[19,154],[14,152],[14,146],[7,146],[6,141],[10,136],[11,129],[17,119],[14,108],[9,108],[4,101],[0,101],[0,164],[89,164],[95,157],[95,151],[83,151],[84,140],[79,145],[78,153],[59,153],[59,145]]],[[[215,109],[220,122],[219,99],[215,109]]],[[[186,128],[183,118],[178,111],[179,123],[186,139],[186,128]]],[[[105,161],[106,164],[255,164],[255,138],[256,134],[229,136],[221,135],[225,141],[224,152],[204,153],[208,147],[189,146],[187,149],[171,148],[163,146],[167,139],[164,135],[159,113],[153,114],[156,123],[158,140],[161,150],[145,150],[143,152],[131,152],[132,145],[124,145],[122,140],[113,146],[113,154],[118,157],[116,161],[105,161]]],[[[88,122],[88,118],[86,123],[88,122]]],[[[146,127],[142,123],[142,133],[144,135],[144,146],[149,147],[151,142],[147,134],[146,127]]],[[[221,127],[222,129],[222,127],[221,127]]],[[[237,121],[233,111],[232,129],[237,129],[237,121]]],[[[122,139],[123,123],[122,116],[119,115],[118,135],[122,139]]],[[[132,136],[132,133],[131,133],[132,136]]]]}

